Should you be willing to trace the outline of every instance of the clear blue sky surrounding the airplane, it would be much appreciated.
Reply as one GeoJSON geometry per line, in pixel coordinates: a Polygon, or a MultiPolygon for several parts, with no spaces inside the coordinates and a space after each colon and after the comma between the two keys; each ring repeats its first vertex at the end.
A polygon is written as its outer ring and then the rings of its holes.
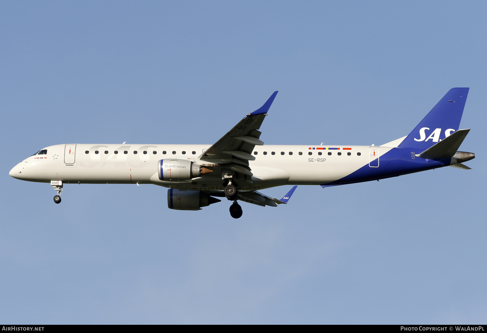
{"type": "MultiPolygon", "coordinates": [[[[2,1],[0,322],[487,319],[484,1],[2,1]],[[466,164],[289,204],[8,171],[64,143],[212,144],[275,90],[266,144],[380,145],[470,87],[466,164]]],[[[281,197],[291,186],[262,191],[281,197]]]]}

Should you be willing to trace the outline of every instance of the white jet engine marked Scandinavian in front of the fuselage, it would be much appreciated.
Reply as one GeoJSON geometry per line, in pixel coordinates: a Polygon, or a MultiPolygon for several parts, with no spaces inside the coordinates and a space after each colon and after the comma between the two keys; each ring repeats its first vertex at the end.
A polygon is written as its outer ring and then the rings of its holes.
{"type": "Polygon", "coordinates": [[[166,158],[159,161],[159,179],[167,182],[190,181],[202,174],[213,172],[190,160],[166,158]]]}

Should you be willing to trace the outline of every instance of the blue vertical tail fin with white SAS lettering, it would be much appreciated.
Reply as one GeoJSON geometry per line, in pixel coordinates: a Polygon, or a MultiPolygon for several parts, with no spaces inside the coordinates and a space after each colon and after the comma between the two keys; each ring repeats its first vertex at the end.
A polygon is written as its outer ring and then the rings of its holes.
{"type": "Polygon", "coordinates": [[[428,149],[457,131],[468,89],[450,89],[398,147],[428,149]]]}

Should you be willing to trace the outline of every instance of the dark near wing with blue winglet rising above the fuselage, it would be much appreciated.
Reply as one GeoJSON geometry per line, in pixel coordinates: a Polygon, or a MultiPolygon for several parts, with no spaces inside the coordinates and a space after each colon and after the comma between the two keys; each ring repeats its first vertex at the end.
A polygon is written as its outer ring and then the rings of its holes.
{"type": "Polygon", "coordinates": [[[254,147],[264,144],[259,140],[261,136],[259,129],[277,93],[274,92],[260,109],[247,114],[233,129],[230,129],[198,158],[211,164],[225,164],[225,168],[248,176],[244,177],[245,181],[252,183],[250,180],[252,172],[248,161],[255,160],[251,154],[254,147]]]}

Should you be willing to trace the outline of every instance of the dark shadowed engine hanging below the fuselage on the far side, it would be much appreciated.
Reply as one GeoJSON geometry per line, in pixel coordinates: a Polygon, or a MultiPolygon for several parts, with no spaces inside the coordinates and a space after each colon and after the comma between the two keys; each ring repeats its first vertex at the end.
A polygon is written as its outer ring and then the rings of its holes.
{"type": "Polygon", "coordinates": [[[201,191],[189,191],[169,188],[168,207],[177,210],[200,210],[201,207],[209,206],[212,203],[219,203],[221,200],[211,197],[201,191]]]}

